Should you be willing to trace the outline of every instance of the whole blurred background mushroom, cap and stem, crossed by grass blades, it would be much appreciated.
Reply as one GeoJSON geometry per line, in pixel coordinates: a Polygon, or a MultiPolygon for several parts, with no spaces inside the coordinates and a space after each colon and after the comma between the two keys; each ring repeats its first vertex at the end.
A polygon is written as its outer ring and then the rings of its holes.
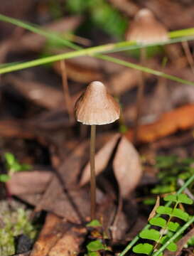
{"type": "MultiPolygon", "coordinates": [[[[126,31],[127,41],[136,41],[142,46],[140,49],[140,63],[146,65],[146,44],[168,41],[168,31],[162,23],[156,20],[149,9],[141,9],[134,21],[126,31]]],[[[136,100],[136,117],[134,120],[134,143],[138,139],[139,118],[141,116],[141,104],[144,100],[144,74],[139,77],[139,88],[136,100]]]]}

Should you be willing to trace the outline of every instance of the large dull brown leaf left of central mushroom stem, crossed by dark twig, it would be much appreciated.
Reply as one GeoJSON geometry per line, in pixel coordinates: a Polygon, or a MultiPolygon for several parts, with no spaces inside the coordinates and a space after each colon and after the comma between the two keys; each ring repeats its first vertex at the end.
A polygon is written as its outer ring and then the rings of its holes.
{"type": "MultiPolygon", "coordinates": [[[[112,134],[103,134],[97,139],[97,148],[105,144],[112,134]]],[[[82,142],[66,156],[63,164],[58,169],[58,177],[54,176],[43,196],[40,194],[22,194],[19,196],[24,201],[36,206],[36,211],[48,210],[72,223],[81,223],[90,215],[90,194],[88,188],[77,186],[80,171],[89,156],[89,142],[82,142]]],[[[102,193],[101,193],[102,194],[102,193]]],[[[101,196],[105,199],[106,196],[101,196]]],[[[99,199],[100,201],[101,199],[99,199]]],[[[110,204],[113,199],[110,198],[110,204]]],[[[110,207],[108,203],[105,205],[110,207]]],[[[98,213],[100,212],[98,206],[98,213]]],[[[104,214],[107,213],[107,208],[104,214]]]]}

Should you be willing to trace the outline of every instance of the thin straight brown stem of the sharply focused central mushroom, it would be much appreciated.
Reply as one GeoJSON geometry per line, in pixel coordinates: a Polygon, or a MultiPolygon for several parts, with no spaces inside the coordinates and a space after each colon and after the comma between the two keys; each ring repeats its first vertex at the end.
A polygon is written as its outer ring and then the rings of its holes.
{"type": "Polygon", "coordinates": [[[96,215],[96,177],[95,177],[95,140],[96,125],[91,125],[90,137],[90,198],[91,198],[91,220],[95,220],[96,215]]]}

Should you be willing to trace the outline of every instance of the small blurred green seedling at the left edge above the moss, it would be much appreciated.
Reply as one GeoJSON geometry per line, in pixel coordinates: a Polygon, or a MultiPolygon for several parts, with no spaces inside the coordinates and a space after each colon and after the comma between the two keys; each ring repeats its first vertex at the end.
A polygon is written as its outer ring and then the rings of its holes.
{"type": "Polygon", "coordinates": [[[4,159],[6,162],[7,174],[0,174],[0,182],[9,181],[11,176],[18,171],[28,171],[31,166],[28,164],[20,164],[14,154],[5,153],[4,159]]]}

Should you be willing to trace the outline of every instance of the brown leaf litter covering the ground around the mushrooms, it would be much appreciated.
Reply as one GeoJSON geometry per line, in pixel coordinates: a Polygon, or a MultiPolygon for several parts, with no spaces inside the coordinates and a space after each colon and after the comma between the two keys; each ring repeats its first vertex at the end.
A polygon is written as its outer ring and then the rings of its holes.
{"type": "MultiPolygon", "coordinates": [[[[126,1],[119,3],[115,0],[109,3],[130,17],[142,7],[141,1],[139,4],[126,1]],[[125,6],[131,6],[131,9],[126,10],[125,6]]],[[[146,6],[150,5],[158,17],[165,20],[168,28],[179,29],[184,27],[183,24],[192,24],[190,14],[193,6],[188,7],[189,4],[169,4],[164,1],[161,6],[160,1],[147,1],[146,6]],[[188,16],[181,21],[178,16],[172,20],[168,11],[159,11],[170,10],[169,6],[173,6],[173,13],[180,13],[181,6],[183,16],[188,16]]],[[[45,22],[47,25],[43,28],[57,33],[74,31],[83,21],[82,15],[65,16],[58,21],[45,22]]],[[[100,35],[99,38],[103,36],[100,35]]],[[[98,43],[99,38],[94,36],[92,40],[98,43]]],[[[106,43],[106,40],[104,42],[106,43]]],[[[20,60],[26,60],[28,56],[34,57],[40,53],[56,54],[69,51],[64,47],[58,48],[55,44],[52,46],[51,43],[36,33],[12,30],[11,36],[1,42],[1,63],[18,61],[19,55],[20,60]]],[[[167,46],[166,55],[169,62],[164,72],[172,75],[181,73],[183,78],[192,81],[193,73],[182,49],[178,44],[173,46],[167,46]],[[171,55],[172,51],[174,55],[171,55]]],[[[190,48],[193,49],[192,42],[190,48]]],[[[162,54],[163,52],[159,53],[162,54]]],[[[129,53],[112,55],[138,63],[134,55],[129,53]]],[[[160,57],[157,55],[153,60],[148,60],[148,66],[160,70],[160,57]]],[[[139,127],[139,145],[135,148],[131,144],[133,129],[130,127],[136,109],[134,95],[139,72],[88,56],[66,60],[65,64],[72,105],[85,90],[86,84],[93,80],[104,82],[109,92],[118,97],[122,104],[124,124],[127,124],[126,132],[118,134],[118,123],[100,127],[95,156],[97,216],[110,247],[114,248],[114,245],[118,244],[122,247],[122,244],[126,245],[126,240],[133,239],[144,227],[151,211],[151,208],[148,211],[148,206],[144,206],[141,201],[144,200],[142,189],[145,191],[145,186],[149,188],[158,181],[155,177],[156,169],[153,168],[154,156],[158,152],[166,154],[166,151],[190,156],[193,150],[190,145],[193,143],[194,127],[193,87],[185,87],[168,80],[165,81],[166,86],[160,87],[160,80],[146,75],[146,107],[139,127]],[[184,146],[191,150],[183,148],[184,146]],[[149,163],[141,152],[146,156],[150,154],[149,163]]],[[[34,207],[33,216],[38,216],[44,210],[46,212],[45,223],[32,251],[23,252],[23,256],[77,255],[85,253],[86,242],[88,244],[91,240],[92,233],[85,225],[90,220],[89,142],[86,140],[88,131],[85,129],[85,132],[81,132],[75,122],[69,122],[60,76],[59,63],[54,63],[50,67],[41,67],[40,70],[31,69],[29,73],[21,70],[1,78],[1,153],[7,148],[13,149],[20,158],[19,151],[26,149],[22,143],[26,143],[36,144],[35,148],[39,154],[43,151],[40,158],[47,156],[43,166],[36,166],[37,159],[31,153],[31,146],[27,146],[29,151],[25,152],[26,159],[30,156],[33,169],[14,174],[7,183],[12,196],[34,207]],[[17,115],[14,110],[17,110],[20,104],[23,107],[22,114],[17,115]],[[16,150],[17,148],[20,150],[16,150]]],[[[5,172],[4,163],[1,162],[2,171],[5,172]]],[[[2,196],[6,194],[3,187],[0,188],[2,196]]],[[[155,208],[156,206],[151,213],[155,214],[155,208]]],[[[187,239],[183,236],[183,243],[187,239]]],[[[182,244],[178,246],[186,255],[182,244]]]]}

